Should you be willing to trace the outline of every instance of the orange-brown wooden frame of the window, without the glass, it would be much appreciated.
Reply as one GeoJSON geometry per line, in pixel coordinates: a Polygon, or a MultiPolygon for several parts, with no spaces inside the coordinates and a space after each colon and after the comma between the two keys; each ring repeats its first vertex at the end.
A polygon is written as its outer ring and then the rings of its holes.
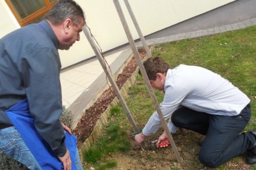
{"type": "MultiPolygon", "coordinates": [[[[33,1],[33,0],[31,0],[33,1]]],[[[17,11],[15,10],[15,8],[13,7],[12,3],[10,2],[10,0],[5,0],[6,4],[9,6],[10,10],[12,11],[15,19],[17,20],[17,22],[19,22],[20,26],[26,26],[29,23],[33,22],[33,20],[36,20],[40,17],[42,17],[43,15],[45,15],[45,13],[49,12],[49,10],[51,10],[52,6],[54,6],[54,4],[57,3],[57,0],[55,0],[54,2],[50,2],[49,0],[43,0],[45,3],[45,7],[36,11],[35,13],[32,13],[31,15],[29,15],[28,17],[24,18],[24,19],[20,19],[19,14],[17,13],[17,11]]]]}

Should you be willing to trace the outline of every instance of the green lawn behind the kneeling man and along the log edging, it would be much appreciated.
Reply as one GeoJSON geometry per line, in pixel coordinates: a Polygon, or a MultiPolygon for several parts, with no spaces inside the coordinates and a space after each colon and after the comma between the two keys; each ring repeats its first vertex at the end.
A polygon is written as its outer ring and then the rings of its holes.
{"type": "MultiPolygon", "coordinates": [[[[256,128],[256,27],[248,27],[237,31],[205,36],[179,42],[156,45],[153,56],[161,56],[171,68],[180,64],[197,65],[219,73],[243,91],[251,100],[252,118],[245,130],[256,128]]],[[[154,111],[143,79],[138,75],[136,84],[129,88],[129,97],[125,98],[134,120],[143,127],[154,111]]],[[[156,91],[159,102],[163,100],[163,92],[156,91]]],[[[97,168],[110,168],[106,164],[116,166],[115,161],[108,162],[108,154],[129,150],[133,132],[127,116],[120,105],[111,110],[111,122],[106,131],[84,153],[86,164],[97,168]],[[90,160],[92,159],[92,160],[90,160]]],[[[252,166],[253,169],[255,167],[252,166]]],[[[220,166],[219,169],[227,169],[220,166]]]]}

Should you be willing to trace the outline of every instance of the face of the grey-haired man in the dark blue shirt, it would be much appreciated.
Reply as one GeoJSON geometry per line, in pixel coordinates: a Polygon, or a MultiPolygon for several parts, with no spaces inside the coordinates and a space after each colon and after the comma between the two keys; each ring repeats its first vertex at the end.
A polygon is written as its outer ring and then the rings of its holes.
{"type": "Polygon", "coordinates": [[[71,20],[70,22],[67,22],[65,25],[65,35],[63,35],[63,38],[59,41],[59,49],[68,50],[76,41],[79,41],[83,25],[83,20],[81,20],[77,26],[71,20]]]}

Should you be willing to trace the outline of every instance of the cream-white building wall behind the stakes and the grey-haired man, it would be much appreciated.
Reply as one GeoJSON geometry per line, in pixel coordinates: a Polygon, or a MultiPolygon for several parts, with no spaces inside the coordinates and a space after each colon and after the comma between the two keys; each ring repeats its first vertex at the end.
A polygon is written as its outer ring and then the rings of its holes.
{"type": "MultiPolygon", "coordinates": [[[[0,1],[1,38],[19,28],[19,25],[5,1],[0,1]]],[[[83,8],[86,15],[86,23],[99,43],[102,52],[128,42],[112,0],[76,1],[83,8]]],[[[129,0],[129,4],[143,35],[146,36],[232,1],[235,0],[129,0]]],[[[124,1],[120,0],[120,4],[132,37],[134,40],[138,39],[138,33],[134,28],[124,1]]],[[[65,68],[84,59],[91,58],[95,54],[82,32],[80,42],[75,43],[70,50],[60,50],[60,56],[62,68],[65,68]]]]}

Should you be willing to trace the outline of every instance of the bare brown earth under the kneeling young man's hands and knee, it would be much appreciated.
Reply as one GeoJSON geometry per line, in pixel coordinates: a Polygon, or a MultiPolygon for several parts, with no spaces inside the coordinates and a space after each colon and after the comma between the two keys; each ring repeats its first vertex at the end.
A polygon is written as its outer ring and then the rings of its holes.
{"type": "MultiPolygon", "coordinates": [[[[152,135],[147,141],[154,141],[163,132],[152,135]]],[[[152,147],[147,151],[143,150],[135,142],[133,142],[131,150],[125,153],[118,153],[109,156],[118,162],[118,167],[114,169],[212,169],[205,167],[198,160],[200,146],[198,142],[202,135],[196,134],[189,130],[183,130],[183,134],[177,131],[173,134],[173,140],[179,151],[182,161],[177,162],[177,158],[169,145],[166,148],[152,147]]],[[[134,141],[133,137],[131,140],[134,141]]],[[[224,169],[252,169],[245,162],[245,155],[234,158],[225,164],[224,169]]]]}

